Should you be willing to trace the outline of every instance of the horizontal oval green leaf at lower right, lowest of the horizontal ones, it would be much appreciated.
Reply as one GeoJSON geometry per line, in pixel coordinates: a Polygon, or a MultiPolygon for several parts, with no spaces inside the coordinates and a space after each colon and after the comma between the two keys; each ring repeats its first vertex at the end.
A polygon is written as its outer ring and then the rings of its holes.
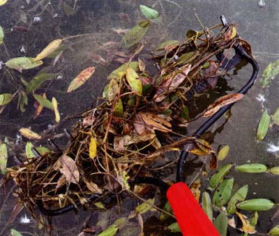
{"type": "Polygon", "coordinates": [[[269,199],[264,198],[254,198],[250,200],[246,200],[244,202],[240,202],[236,205],[239,209],[243,209],[245,211],[255,211],[262,212],[271,209],[274,206],[274,203],[269,199]]]}

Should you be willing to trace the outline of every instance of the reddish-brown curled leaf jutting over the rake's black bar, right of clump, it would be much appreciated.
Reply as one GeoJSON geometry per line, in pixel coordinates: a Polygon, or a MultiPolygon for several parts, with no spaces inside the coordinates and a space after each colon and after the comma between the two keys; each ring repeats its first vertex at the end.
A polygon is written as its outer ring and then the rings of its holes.
{"type": "Polygon", "coordinates": [[[243,94],[228,94],[226,96],[223,96],[216,100],[214,103],[209,105],[208,108],[204,111],[202,114],[203,117],[211,117],[211,115],[218,112],[220,108],[225,107],[226,105],[229,105],[231,103],[235,103],[236,101],[239,101],[241,98],[243,98],[243,94]]]}

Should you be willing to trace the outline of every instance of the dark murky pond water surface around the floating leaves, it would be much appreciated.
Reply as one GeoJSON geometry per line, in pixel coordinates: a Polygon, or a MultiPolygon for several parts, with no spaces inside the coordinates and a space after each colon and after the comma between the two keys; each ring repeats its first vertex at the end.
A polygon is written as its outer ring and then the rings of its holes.
{"type": "MultiPolygon", "coordinates": [[[[44,61],[45,70],[57,75],[54,80],[47,81],[43,88],[39,89],[40,92],[45,91],[48,98],[54,96],[59,101],[59,112],[62,118],[75,115],[91,108],[93,101],[101,96],[103,87],[107,83],[107,75],[127,61],[121,49],[121,31],[144,20],[140,13],[140,4],[155,8],[162,14],[163,19],[161,24],[151,24],[149,34],[146,35],[144,41],[146,49],[169,39],[183,40],[188,29],[201,29],[195,13],[205,27],[220,24],[220,15],[225,15],[228,22],[238,24],[239,35],[252,46],[252,52],[260,68],[259,76],[269,63],[279,59],[279,1],[277,0],[8,0],[5,5],[0,6],[0,25],[5,34],[5,45],[0,45],[0,61],[7,61],[13,57],[35,57],[45,45],[56,38],[84,34],[84,36],[67,41],[67,50],[63,51],[55,65],[53,59],[44,61]],[[93,77],[80,89],[66,93],[68,84],[75,75],[89,66],[96,66],[93,77]]],[[[148,58],[148,53],[148,50],[144,50],[142,57],[148,58]]],[[[153,61],[149,61],[150,68],[153,70],[153,61]]],[[[24,71],[22,78],[32,78],[40,69],[24,71]]],[[[243,84],[246,84],[250,75],[251,68],[246,66],[227,81],[226,87],[237,91],[243,84]]],[[[279,107],[278,87],[278,78],[272,80],[265,88],[262,88],[257,80],[248,94],[233,106],[232,117],[229,118],[222,131],[217,132],[216,129],[223,124],[224,118],[213,124],[210,128],[213,133],[216,131],[213,148],[218,149],[220,145],[230,147],[229,156],[219,165],[231,162],[236,165],[244,163],[279,165],[279,148],[275,150],[270,148],[279,146],[278,126],[274,125],[269,128],[263,141],[256,140],[257,125],[264,109],[267,109],[271,115],[279,107]]],[[[0,93],[12,93],[16,90],[17,81],[13,82],[7,78],[7,73],[2,68],[0,93]]],[[[13,144],[9,151],[8,165],[15,164],[16,158],[13,156],[20,156],[24,152],[26,140],[18,137],[20,128],[31,126],[33,131],[41,132],[55,124],[53,112],[46,109],[37,119],[33,119],[34,100],[31,96],[28,98],[29,103],[25,112],[17,110],[17,101],[12,101],[0,115],[0,140],[3,141],[5,137],[8,137],[10,144],[13,144]]],[[[209,104],[206,99],[206,97],[202,101],[199,99],[197,108],[206,108],[209,104]]],[[[195,124],[190,124],[188,133],[194,133],[205,120],[201,119],[195,124]]],[[[65,127],[69,128],[74,121],[63,122],[56,128],[56,133],[61,133],[65,127]]],[[[61,142],[60,147],[65,145],[65,140],[57,142],[61,142]]],[[[200,161],[197,161],[197,166],[199,163],[200,161]]],[[[196,172],[187,177],[188,182],[195,177],[196,172]]],[[[229,177],[234,177],[234,182],[238,186],[249,184],[247,198],[269,198],[274,202],[279,202],[278,176],[268,173],[243,174],[232,171],[229,177]]],[[[174,180],[174,175],[169,175],[168,179],[174,180]]],[[[0,235],[8,235],[10,228],[22,232],[22,235],[46,235],[43,229],[38,230],[35,221],[23,223],[22,217],[25,215],[31,219],[29,212],[25,210],[20,212],[13,221],[9,220],[10,212],[15,205],[15,198],[9,192],[8,188],[5,191],[1,190],[0,235]]],[[[81,209],[78,214],[69,212],[54,217],[51,221],[54,227],[52,235],[78,235],[84,222],[89,222],[90,226],[96,226],[98,223],[98,226],[104,229],[121,216],[128,216],[131,209],[140,202],[128,197],[127,199],[122,202],[121,214],[117,207],[112,207],[106,212],[91,214],[81,209]]],[[[278,225],[279,217],[271,221],[275,212],[276,208],[259,214],[257,226],[259,233],[267,233],[270,228],[278,225]]],[[[151,235],[150,232],[156,231],[158,223],[156,213],[146,213],[143,219],[149,228],[144,235],[151,235]]],[[[117,235],[139,235],[140,232],[137,219],[133,219],[117,235]]],[[[175,235],[167,233],[162,226],[160,233],[153,235],[168,234],[175,235]]],[[[241,233],[229,230],[229,235],[241,235],[241,233]]]]}

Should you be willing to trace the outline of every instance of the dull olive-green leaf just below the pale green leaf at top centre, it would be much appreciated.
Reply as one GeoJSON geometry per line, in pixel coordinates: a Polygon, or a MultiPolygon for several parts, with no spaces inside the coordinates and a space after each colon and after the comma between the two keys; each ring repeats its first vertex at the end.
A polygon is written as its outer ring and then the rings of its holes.
{"type": "Polygon", "coordinates": [[[139,43],[149,29],[149,24],[149,20],[146,20],[144,22],[140,22],[135,27],[130,29],[127,34],[123,36],[122,44],[125,47],[132,47],[136,43],[139,43]]]}

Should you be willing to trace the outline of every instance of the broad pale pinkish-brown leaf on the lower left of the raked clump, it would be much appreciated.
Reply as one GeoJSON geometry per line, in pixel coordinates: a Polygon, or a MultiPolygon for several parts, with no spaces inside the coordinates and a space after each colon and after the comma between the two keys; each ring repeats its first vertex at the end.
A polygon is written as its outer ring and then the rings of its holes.
{"type": "Polygon", "coordinates": [[[80,172],[77,169],[75,161],[70,156],[60,156],[56,163],[56,168],[66,177],[68,183],[78,184],[80,181],[80,172]]]}

